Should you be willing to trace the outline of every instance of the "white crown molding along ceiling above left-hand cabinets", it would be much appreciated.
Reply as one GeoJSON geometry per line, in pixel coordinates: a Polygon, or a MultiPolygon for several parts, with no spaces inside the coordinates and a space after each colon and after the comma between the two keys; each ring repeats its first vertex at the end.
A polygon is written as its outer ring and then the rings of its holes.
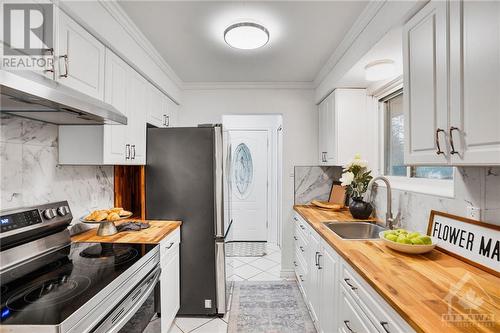
{"type": "Polygon", "coordinates": [[[147,37],[141,32],[141,30],[135,25],[135,23],[130,19],[123,8],[118,4],[116,0],[98,0],[104,9],[113,16],[113,18],[120,24],[123,29],[129,34],[134,41],[143,48],[146,53],[150,56],[151,60],[161,68],[161,70],[167,75],[178,87],[182,89],[183,82],[175,71],[170,67],[170,65],[163,59],[156,48],[151,44],[147,37]]]}

